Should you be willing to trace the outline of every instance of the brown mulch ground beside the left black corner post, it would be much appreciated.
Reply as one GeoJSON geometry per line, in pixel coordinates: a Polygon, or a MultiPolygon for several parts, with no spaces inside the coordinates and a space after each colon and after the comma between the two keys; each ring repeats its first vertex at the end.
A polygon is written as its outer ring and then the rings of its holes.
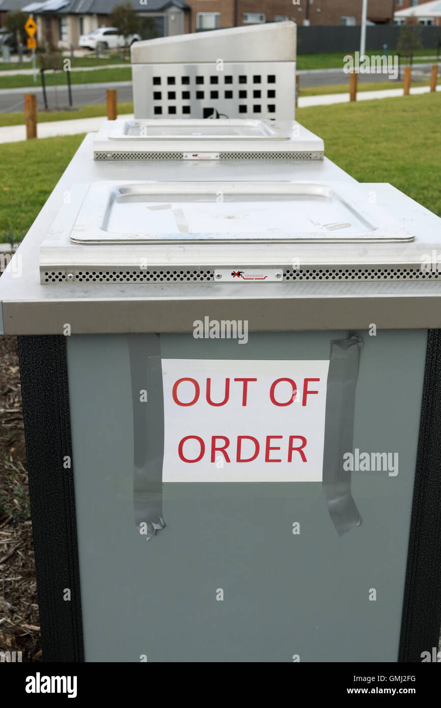
{"type": "Polygon", "coordinates": [[[41,661],[16,337],[0,337],[0,651],[41,661]]]}

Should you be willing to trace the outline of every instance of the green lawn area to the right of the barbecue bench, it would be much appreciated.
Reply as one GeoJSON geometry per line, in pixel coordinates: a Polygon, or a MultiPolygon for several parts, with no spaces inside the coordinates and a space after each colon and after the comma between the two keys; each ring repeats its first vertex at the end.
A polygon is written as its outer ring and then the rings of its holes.
{"type": "Polygon", "coordinates": [[[299,108],[326,156],[359,182],[389,182],[441,216],[441,93],[299,108]]]}

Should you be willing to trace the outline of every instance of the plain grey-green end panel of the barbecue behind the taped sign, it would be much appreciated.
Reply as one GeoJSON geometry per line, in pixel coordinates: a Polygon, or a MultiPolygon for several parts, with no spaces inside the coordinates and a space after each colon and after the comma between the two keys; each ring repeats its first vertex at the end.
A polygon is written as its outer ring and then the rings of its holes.
{"type": "MultiPolygon", "coordinates": [[[[68,338],[86,661],[397,661],[427,332],[360,334],[354,445],[399,452],[395,477],[353,474],[360,527],[338,537],[321,482],[164,484],[149,543],[133,521],[127,336],[68,338]]],[[[161,355],[327,359],[347,336],[161,335],[161,355]]]]}

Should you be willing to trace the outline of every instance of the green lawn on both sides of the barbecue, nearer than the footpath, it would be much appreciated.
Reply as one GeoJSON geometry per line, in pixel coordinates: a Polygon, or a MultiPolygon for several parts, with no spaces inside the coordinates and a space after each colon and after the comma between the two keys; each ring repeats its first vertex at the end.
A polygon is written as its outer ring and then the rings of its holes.
{"type": "MultiPolygon", "coordinates": [[[[441,94],[300,108],[297,120],[360,182],[390,182],[441,216],[441,94]]],[[[83,136],[0,145],[0,239],[29,229],[83,136]]]]}

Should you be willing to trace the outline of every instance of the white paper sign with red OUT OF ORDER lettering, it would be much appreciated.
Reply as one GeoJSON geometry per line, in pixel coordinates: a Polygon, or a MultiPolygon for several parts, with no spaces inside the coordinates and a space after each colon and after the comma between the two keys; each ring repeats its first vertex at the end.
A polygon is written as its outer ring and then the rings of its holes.
{"type": "Polygon", "coordinates": [[[162,360],[163,481],[321,481],[328,367],[162,360]]]}

